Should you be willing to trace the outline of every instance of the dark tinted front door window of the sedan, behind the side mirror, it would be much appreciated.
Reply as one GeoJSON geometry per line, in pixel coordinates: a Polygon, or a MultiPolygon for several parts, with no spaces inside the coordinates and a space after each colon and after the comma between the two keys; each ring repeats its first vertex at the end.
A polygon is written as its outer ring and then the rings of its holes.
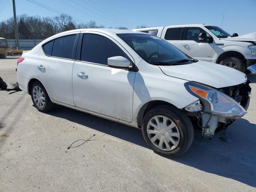
{"type": "Polygon", "coordinates": [[[108,58],[126,57],[126,54],[111,40],[96,34],[84,34],[81,47],[81,60],[108,64],[108,58]]]}

